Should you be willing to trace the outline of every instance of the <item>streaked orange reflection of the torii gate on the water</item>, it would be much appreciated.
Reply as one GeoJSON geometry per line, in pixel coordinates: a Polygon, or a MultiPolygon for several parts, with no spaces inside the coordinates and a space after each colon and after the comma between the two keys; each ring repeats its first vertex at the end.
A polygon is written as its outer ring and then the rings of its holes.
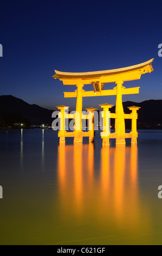
{"type": "Polygon", "coordinates": [[[103,147],[94,154],[93,143],[58,146],[63,219],[66,216],[67,221],[68,216],[68,221],[94,223],[93,229],[102,229],[104,235],[107,227],[110,233],[116,228],[123,234],[124,228],[127,236],[131,233],[135,236],[140,232],[141,219],[145,218],[147,232],[149,215],[147,209],[145,214],[141,213],[139,201],[138,147],[103,147]]]}

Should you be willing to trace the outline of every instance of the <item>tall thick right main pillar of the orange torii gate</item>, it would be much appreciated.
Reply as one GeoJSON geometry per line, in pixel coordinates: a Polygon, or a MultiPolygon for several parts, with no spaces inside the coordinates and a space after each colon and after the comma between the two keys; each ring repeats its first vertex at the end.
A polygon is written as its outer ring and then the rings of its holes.
{"type": "Polygon", "coordinates": [[[115,133],[117,135],[116,144],[126,144],[125,140],[125,121],[124,121],[124,111],[122,104],[122,86],[123,81],[116,81],[116,108],[115,113],[117,118],[115,119],[115,133]]]}

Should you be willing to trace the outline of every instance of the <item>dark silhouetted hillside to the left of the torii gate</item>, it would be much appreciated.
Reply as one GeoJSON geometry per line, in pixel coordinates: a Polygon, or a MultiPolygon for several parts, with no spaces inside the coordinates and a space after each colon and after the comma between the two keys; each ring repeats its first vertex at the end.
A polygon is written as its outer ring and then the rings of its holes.
{"type": "Polygon", "coordinates": [[[30,105],[29,103],[18,99],[12,95],[0,96],[0,111],[8,111],[11,113],[18,112],[23,118],[28,118],[32,124],[52,124],[52,112],[38,105],[30,105]]]}

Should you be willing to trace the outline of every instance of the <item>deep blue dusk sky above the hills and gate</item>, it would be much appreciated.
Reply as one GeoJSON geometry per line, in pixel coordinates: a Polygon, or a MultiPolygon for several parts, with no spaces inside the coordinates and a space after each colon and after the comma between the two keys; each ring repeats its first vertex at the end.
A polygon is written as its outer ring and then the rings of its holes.
{"type": "MultiPolygon", "coordinates": [[[[162,99],[161,8],[161,1],[1,1],[0,95],[51,109],[74,107],[76,99],[64,99],[63,92],[76,87],[54,80],[54,69],[98,71],[154,58],[151,74],[124,83],[140,86],[140,94],[123,96],[123,101],[162,99]]],[[[83,106],[105,102],[114,104],[115,96],[84,98],[83,106]]]]}

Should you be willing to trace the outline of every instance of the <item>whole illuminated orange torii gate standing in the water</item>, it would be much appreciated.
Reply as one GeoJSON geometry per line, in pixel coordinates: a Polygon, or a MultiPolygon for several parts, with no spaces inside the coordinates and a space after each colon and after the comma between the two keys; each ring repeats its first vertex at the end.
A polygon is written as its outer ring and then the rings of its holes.
{"type": "MultiPolygon", "coordinates": [[[[132,138],[131,143],[136,144],[136,138],[138,133],[136,132],[136,111],[139,107],[129,107],[132,111],[130,114],[124,114],[123,105],[122,105],[122,95],[123,94],[136,94],[139,93],[140,87],[134,88],[125,88],[122,86],[124,81],[138,80],[142,74],[153,71],[151,63],[153,59],[148,60],[147,62],[128,66],[127,68],[121,69],[111,69],[104,71],[94,71],[94,72],[83,72],[83,73],[71,73],[71,72],[60,72],[55,70],[54,78],[59,78],[60,81],[63,81],[63,84],[66,85],[76,85],[77,90],[73,93],[64,93],[64,97],[77,97],[76,111],[80,114],[79,120],[73,114],[66,114],[66,106],[58,106],[60,112],[62,113],[62,130],[59,131],[60,142],[65,143],[65,137],[74,137],[74,142],[82,142],[83,137],[89,137],[89,141],[94,139],[94,126],[92,125],[92,130],[88,132],[82,131],[82,119],[89,119],[89,115],[82,114],[82,98],[91,97],[91,96],[107,96],[107,95],[116,95],[116,109],[115,113],[110,114],[110,118],[115,118],[115,133],[110,133],[108,136],[102,136],[103,144],[109,145],[109,138],[116,138],[116,144],[125,144],[125,138],[132,138]],[[104,90],[105,83],[116,83],[116,87],[111,90],[104,90]],[[84,91],[84,84],[93,84],[94,91],[84,91]],[[65,118],[76,118],[77,127],[73,132],[65,131],[65,118]],[[132,119],[132,131],[130,133],[125,132],[124,119],[132,119]]],[[[106,123],[106,112],[109,111],[109,108],[113,105],[102,104],[100,105],[103,108],[103,119],[104,124],[106,123]]],[[[86,108],[91,116],[97,108],[86,108]]]]}

